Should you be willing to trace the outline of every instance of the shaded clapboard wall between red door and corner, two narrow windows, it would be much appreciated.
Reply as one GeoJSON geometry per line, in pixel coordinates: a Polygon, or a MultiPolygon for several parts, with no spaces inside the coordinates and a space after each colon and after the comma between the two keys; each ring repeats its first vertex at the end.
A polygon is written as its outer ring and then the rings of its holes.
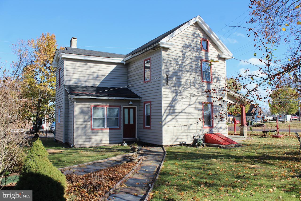
{"type": "Polygon", "coordinates": [[[141,97],[138,110],[138,136],[147,143],[162,145],[161,50],[147,53],[128,64],[129,89],[141,97]],[[143,60],[151,58],[151,82],[144,81],[143,60]],[[151,101],[151,129],[143,129],[145,101],[151,101]]]}

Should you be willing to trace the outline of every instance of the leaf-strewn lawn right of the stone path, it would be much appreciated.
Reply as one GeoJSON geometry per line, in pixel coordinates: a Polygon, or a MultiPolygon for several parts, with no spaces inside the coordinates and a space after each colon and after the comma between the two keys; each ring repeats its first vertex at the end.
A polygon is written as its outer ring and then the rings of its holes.
{"type": "Polygon", "coordinates": [[[299,200],[295,137],[252,136],[242,147],[166,147],[152,200],[299,200]]]}

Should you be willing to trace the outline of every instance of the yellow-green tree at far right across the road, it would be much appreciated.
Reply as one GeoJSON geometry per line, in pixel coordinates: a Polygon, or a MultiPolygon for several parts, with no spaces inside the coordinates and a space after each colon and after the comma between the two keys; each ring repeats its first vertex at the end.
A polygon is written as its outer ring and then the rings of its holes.
{"type": "Polygon", "coordinates": [[[271,98],[271,112],[273,114],[291,115],[298,111],[298,94],[291,87],[284,86],[274,90],[271,98]]]}

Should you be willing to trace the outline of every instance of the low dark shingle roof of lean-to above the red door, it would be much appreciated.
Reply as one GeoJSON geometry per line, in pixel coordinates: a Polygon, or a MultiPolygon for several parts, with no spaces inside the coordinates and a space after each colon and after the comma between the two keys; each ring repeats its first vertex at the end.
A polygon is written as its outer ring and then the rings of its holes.
{"type": "Polygon", "coordinates": [[[76,86],[65,85],[71,96],[111,97],[111,98],[141,98],[128,88],[103,87],[103,86],[76,86]]]}

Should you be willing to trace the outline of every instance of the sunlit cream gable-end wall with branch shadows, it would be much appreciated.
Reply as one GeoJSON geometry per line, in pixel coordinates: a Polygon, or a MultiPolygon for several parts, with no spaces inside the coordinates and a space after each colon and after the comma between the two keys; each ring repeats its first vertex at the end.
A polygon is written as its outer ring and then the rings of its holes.
{"type": "MultiPolygon", "coordinates": [[[[163,85],[163,145],[191,143],[193,133],[222,133],[227,135],[226,119],[214,120],[213,129],[203,129],[202,102],[212,102],[204,90],[225,87],[225,59],[219,58],[219,49],[206,33],[195,23],[170,39],[174,44],[170,49],[163,49],[163,74],[169,74],[169,85],[163,85]],[[201,51],[200,39],[209,39],[209,52],[201,51]],[[213,83],[201,82],[200,60],[218,60],[212,68],[213,83]],[[193,94],[197,96],[191,96],[193,94]],[[189,125],[192,124],[192,125],[189,125]],[[187,125],[187,126],[185,126],[187,125]]],[[[215,97],[226,97],[223,89],[215,97]]],[[[214,99],[216,100],[216,99],[214,99]]],[[[226,102],[213,103],[214,114],[226,111],[226,102]],[[221,104],[221,105],[220,105],[221,104]]]]}

